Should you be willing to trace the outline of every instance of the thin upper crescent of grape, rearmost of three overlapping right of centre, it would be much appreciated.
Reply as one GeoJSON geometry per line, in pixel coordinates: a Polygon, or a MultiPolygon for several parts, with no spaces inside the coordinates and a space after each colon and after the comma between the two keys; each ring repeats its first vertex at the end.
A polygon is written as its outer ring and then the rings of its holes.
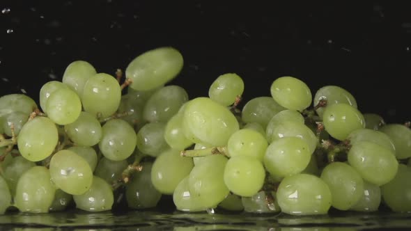
{"type": "Polygon", "coordinates": [[[271,143],[274,129],[284,122],[297,122],[298,124],[304,125],[304,117],[300,112],[288,109],[275,114],[272,116],[265,129],[265,137],[267,137],[267,141],[271,143]]]}

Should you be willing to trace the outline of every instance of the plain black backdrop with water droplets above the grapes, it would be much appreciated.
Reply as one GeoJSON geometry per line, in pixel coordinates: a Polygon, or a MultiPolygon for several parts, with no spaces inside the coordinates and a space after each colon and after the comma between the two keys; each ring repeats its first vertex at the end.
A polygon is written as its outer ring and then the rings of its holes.
{"type": "MultiPolygon", "coordinates": [[[[316,90],[338,85],[363,113],[410,120],[411,13],[397,1],[0,1],[0,95],[33,99],[72,61],[114,74],[148,49],[173,46],[173,84],[206,96],[226,72],[244,102],[284,75],[316,90]],[[8,12],[8,9],[10,10],[8,12]]],[[[244,103],[243,102],[243,103],[244,103]]]]}

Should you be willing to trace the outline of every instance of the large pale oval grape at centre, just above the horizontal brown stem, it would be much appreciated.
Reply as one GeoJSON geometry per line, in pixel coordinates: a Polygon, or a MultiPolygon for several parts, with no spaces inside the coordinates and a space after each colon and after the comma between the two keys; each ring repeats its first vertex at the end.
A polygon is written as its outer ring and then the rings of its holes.
{"type": "Polygon", "coordinates": [[[208,97],[197,97],[187,103],[184,110],[183,129],[194,143],[200,140],[210,145],[226,145],[231,134],[239,129],[238,121],[225,106],[208,97]]]}

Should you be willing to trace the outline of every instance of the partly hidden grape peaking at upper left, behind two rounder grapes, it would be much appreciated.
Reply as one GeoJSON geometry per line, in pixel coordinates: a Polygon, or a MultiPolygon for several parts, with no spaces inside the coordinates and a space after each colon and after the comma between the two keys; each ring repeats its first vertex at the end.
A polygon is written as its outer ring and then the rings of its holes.
{"type": "Polygon", "coordinates": [[[75,90],[79,97],[82,97],[84,84],[86,84],[88,78],[96,73],[95,68],[90,63],[74,61],[65,68],[62,82],[75,90]]]}

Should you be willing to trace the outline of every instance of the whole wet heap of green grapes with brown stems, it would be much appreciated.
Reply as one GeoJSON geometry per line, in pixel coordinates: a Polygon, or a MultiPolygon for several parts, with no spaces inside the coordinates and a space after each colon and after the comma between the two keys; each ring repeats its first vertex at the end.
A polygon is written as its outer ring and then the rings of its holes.
{"type": "Polygon", "coordinates": [[[115,76],[86,61],[61,81],[0,97],[0,214],[159,206],[293,215],[329,209],[411,212],[411,129],[359,111],[339,86],[312,95],[279,77],[240,108],[242,78],[224,73],[189,99],[172,80],[173,47],[139,54],[115,76]]]}

